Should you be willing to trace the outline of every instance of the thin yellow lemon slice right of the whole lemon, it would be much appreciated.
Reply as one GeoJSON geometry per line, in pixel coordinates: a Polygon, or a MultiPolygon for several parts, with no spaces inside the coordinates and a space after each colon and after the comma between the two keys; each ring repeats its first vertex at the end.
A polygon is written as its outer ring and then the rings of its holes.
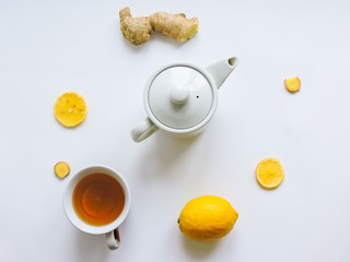
{"type": "Polygon", "coordinates": [[[280,186],[284,179],[284,170],[281,163],[272,157],[260,160],[255,170],[256,179],[266,189],[280,186]]]}

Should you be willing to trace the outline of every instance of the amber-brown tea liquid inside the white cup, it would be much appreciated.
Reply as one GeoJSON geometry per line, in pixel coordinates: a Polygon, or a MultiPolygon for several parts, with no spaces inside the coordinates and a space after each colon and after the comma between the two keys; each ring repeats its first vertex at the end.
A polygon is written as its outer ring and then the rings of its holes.
{"type": "Polygon", "coordinates": [[[72,201],[75,213],[82,221],[93,226],[104,226],[120,215],[125,194],[116,179],[96,172],[78,182],[72,201]]]}

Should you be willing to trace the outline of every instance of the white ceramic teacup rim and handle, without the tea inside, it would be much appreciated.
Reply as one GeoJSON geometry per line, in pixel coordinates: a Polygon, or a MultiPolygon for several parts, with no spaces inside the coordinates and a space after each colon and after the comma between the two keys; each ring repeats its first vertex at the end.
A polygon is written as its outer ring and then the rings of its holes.
{"type": "Polygon", "coordinates": [[[131,203],[131,194],[126,180],[114,169],[105,166],[91,166],[77,172],[69,181],[63,193],[63,207],[69,221],[80,230],[92,235],[105,235],[109,249],[117,249],[120,246],[118,227],[127,217],[131,203]],[[105,174],[114,178],[122,188],[125,204],[119,216],[107,225],[94,226],[79,217],[73,206],[73,191],[75,186],[86,176],[92,174],[105,174]]]}

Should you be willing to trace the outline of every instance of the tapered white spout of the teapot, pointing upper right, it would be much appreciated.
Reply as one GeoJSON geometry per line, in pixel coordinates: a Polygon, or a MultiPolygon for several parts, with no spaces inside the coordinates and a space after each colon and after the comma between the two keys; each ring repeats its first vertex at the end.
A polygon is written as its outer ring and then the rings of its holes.
{"type": "Polygon", "coordinates": [[[206,70],[214,80],[217,87],[219,88],[223,82],[228,79],[230,73],[234,70],[237,66],[238,59],[235,57],[231,57],[229,59],[224,59],[217,63],[209,66],[206,70]]]}

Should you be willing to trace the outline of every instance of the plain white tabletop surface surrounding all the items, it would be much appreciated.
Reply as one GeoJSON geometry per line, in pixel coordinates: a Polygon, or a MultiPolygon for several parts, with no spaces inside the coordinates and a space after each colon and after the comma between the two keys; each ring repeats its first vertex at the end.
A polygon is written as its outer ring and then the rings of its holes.
{"type": "Polygon", "coordinates": [[[1,0],[1,261],[349,261],[349,9],[346,0],[1,0]],[[133,47],[118,28],[125,5],[197,16],[199,33],[133,47]],[[132,142],[153,70],[232,55],[241,62],[202,135],[132,142]],[[283,80],[295,75],[302,88],[291,95],[283,80]],[[52,112],[69,90],[89,105],[75,129],[52,112]],[[254,175],[269,156],[285,169],[273,191],[254,175]],[[71,165],[65,180],[52,171],[59,160],[71,165]],[[94,164],[119,170],[131,189],[117,251],[63,213],[68,180],[94,164]],[[195,242],[177,228],[182,207],[203,194],[240,213],[221,241],[195,242]]]}

